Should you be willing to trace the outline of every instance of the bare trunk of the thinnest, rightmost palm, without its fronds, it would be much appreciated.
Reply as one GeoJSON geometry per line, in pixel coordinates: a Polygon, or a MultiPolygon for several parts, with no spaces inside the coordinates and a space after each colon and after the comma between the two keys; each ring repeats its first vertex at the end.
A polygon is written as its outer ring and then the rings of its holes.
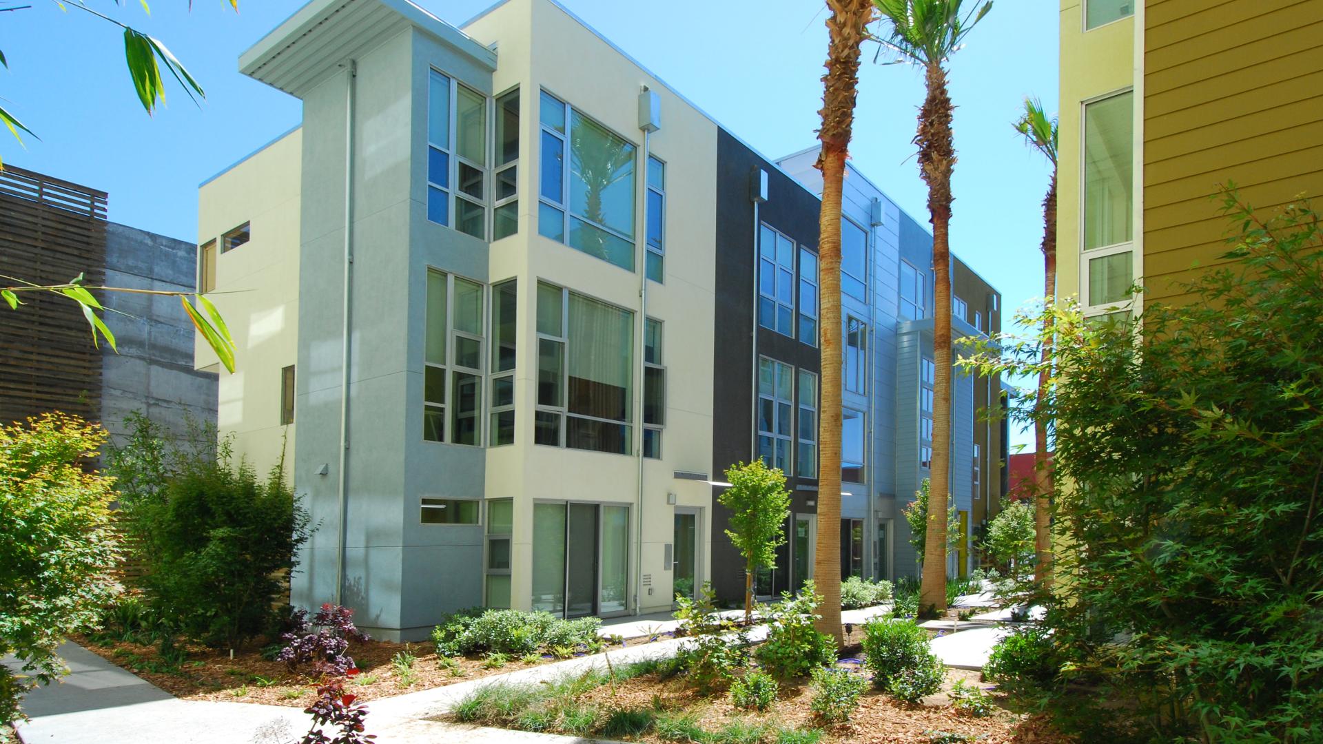
{"type": "Polygon", "coordinates": [[[1057,294],[1057,173],[1052,172],[1052,185],[1043,199],[1043,287],[1046,304],[1043,315],[1043,357],[1039,369],[1039,397],[1033,416],[1033,471],[1037,475],[1037,494],[1033,500],[1033,548],[1037,553],[1033,577],[1039,586],[1052,590],[1052,463],[1048,461],[1048,384],[1052,377],[1053,316],[1057,294]]]}

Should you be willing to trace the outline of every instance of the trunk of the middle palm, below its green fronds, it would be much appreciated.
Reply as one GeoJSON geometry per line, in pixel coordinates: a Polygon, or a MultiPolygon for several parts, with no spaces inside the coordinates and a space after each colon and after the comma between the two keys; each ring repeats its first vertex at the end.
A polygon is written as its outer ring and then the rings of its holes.
{"type": "Polygon", "coordinates": [[[918,164],[927,183],[927,210],[933,221],[933,466],[923,544],[919,609],[946,610],[946,520],[951,470],[951,98],[939,61],[926,70],[927,97],[919,109],[918,164]]]}

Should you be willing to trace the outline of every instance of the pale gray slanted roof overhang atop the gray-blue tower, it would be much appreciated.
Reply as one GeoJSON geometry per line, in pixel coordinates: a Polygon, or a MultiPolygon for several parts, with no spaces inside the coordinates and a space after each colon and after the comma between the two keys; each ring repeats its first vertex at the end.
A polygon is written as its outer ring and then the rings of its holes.
{"type": "Polygon", "coordinates": [[[496,53],[409,0],[312,0],[239,56],[239,71],[302,97],[344,60],[407,28],[496,69],[496,53]]]}

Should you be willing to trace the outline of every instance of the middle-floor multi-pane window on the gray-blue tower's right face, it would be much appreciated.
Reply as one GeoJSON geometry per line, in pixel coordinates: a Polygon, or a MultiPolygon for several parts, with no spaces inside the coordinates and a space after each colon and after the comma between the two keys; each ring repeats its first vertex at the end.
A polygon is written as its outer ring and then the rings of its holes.
{"type": "Polygon", "coordinates": [[[423,352],[427,441],[482,445],[483,295],[478,282],[427,271],[423,352]]]}

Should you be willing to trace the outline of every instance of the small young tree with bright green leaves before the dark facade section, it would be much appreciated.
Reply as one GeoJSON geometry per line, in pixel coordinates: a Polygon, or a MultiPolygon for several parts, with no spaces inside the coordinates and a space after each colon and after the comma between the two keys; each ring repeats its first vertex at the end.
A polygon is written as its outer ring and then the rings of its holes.
{"type": "Polygon", "coordinates": [[[762,459],[736,463],[726,470],[726,488],[717,502],[730,510],[726,536],[745,559],[745,624],[753,622],[753,577],[759,568],[777,563],[777,548],[786,541],[782,526],[790,515],[790,491],[781,470],[762,459]]]}

